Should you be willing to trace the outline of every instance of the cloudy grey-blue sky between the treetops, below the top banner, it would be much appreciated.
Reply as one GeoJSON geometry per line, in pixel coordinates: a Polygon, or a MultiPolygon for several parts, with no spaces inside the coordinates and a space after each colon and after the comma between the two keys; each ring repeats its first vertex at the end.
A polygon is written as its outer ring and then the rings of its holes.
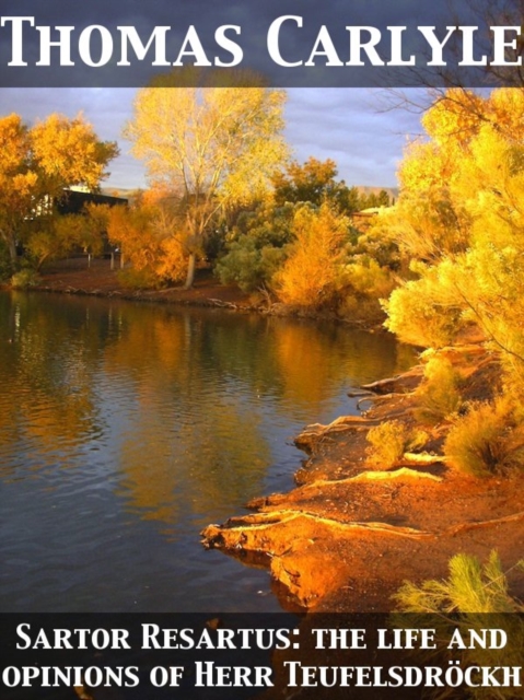
{"type": "MultiPolygon", "coordinates": [[[[0,90],[0,114],[15,112],[27,121],[54,112],[75,116],[82,112],[104,140],[116,140],[120,156],[109,166],[109,187],[145,187],[142,164],[129,154],[121,138],[132,116],[135,89],[0,90]]],[[[286,107],[286,136],[294,156],[333,159],[348,185],[396,186],[395,173],[406,139],[420,132],[419,115],[385,109],[384,95],[369,89],[291,89],[286,107]]]]}

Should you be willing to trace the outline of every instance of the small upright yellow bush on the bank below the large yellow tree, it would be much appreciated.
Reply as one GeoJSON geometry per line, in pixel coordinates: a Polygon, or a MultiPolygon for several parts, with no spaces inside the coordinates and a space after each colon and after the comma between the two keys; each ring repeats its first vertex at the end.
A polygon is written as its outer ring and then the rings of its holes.
{"type": "Polygon", "coordinates": [[[461,377],[447,358],[434,357],[424,368],[424,381],[417,390],[419,420],[441,421],[456,413],[463,404],[461,377]]]}

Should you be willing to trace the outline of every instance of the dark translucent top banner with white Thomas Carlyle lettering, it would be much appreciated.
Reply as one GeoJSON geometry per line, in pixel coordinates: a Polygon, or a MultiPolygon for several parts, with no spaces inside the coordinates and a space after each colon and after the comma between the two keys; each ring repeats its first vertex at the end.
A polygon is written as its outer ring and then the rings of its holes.
{"type": "Polygon", "coordinates": [[[0,86],[143,86],[166,75],[175,86],[522,82],[516,0],[4,0],[0,9],[0,86]]]}

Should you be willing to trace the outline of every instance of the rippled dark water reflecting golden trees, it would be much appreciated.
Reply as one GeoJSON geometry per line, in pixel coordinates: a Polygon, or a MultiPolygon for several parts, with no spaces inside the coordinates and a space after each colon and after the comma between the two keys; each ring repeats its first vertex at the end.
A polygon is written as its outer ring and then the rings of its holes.
{"type": "Polygon", "coordinates": [[[0,294],[0,610],[275,611],[199,532],[292,486],[291,438],[409,365],[333,324],[0,294]]]}

